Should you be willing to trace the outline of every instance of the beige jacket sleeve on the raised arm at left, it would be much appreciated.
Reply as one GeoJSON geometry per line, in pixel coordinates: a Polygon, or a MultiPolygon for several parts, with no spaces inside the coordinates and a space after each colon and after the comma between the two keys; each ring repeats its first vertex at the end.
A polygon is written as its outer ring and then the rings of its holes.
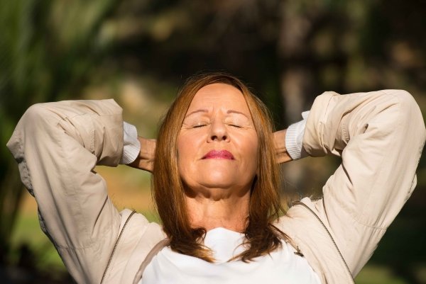
{"type": "Polygon", "coordinates": [[[24,113],[7,147],[37,201],[40,227],[72,277],[99,283],[121,217],[94,166],[119,163],[121,108],[113,100],[36,104],[24,113]]]}

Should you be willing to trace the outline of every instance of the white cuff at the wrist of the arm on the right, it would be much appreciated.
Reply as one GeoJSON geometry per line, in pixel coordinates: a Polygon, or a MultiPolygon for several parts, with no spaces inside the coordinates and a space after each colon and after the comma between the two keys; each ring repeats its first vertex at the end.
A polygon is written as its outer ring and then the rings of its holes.
{"type": "Polygon", "coordinates": [[[285,148],[293,160],[307,157],[307,152],[303,149],[303,135],[305,134],[305,126],[309,110],[302,113],[303,120],[293,123],[285,132],[285,148]]]}

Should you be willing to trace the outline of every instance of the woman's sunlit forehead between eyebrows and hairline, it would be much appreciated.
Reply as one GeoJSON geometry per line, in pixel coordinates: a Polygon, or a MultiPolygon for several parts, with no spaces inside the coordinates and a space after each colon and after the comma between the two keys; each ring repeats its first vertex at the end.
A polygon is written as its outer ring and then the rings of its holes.
{"type": "Polygon", "coordinates": [[[250,114],[246,99],[234,86],[215,83],[202,87],[195,93],[188,112],[197,108],[224,108],[250,114]]]}

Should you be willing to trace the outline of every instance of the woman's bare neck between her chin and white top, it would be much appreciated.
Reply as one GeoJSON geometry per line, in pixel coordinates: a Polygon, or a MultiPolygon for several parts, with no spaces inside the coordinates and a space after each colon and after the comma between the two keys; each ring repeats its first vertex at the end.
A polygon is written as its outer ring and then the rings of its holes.
{"type": "MultiPolygon", "coordinates": [[[[223,189],[217,191],[223,192],[223,189]]],[[[204,227],[207,231],[224,227],[235,232],[244,232],[249,216],[250,192],[239,196],[218,194],[186,197],[187,210],[192,227],[204,227]]]]}

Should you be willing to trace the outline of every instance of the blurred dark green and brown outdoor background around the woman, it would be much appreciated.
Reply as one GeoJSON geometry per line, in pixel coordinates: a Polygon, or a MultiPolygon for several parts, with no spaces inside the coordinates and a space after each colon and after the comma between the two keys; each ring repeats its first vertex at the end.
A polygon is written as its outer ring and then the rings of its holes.
{"type": "MultiPolygon", "coordinates": [[[[0,282],[72,283],[4,146],[28,106],[114,98],[155,137],[180,84],[219,70],[256,90],[278,128],[323,91],[405,89],[426,113],[425,11],[422,0],[0,0],[0,282]]],[[[338,164],[285,164],[282,190],[317,195],[338,164]]],[[[158,220],[149,174],[97,171],[118,208],[158,220]]],[[[356,283],[426,283],[425,158],[417,178],[356,283]]]]}

